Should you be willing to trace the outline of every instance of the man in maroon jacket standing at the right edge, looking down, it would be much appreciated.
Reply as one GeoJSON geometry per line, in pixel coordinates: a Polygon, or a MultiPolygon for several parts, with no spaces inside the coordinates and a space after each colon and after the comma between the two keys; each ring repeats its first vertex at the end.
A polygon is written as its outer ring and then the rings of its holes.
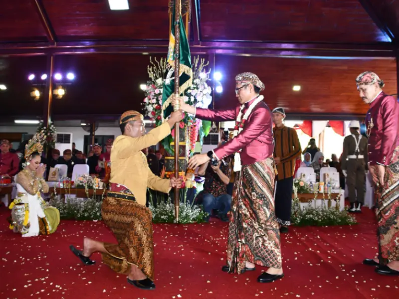
{"type": "Polygon", "coordinates": [[[376,272],[399,276],[399,103],[382,90],[384,81],[373,72],[356,78],[359,95],[370,109],[366,115],[369,169],[376,184],[378,259],[365,265],[376,272]]]}

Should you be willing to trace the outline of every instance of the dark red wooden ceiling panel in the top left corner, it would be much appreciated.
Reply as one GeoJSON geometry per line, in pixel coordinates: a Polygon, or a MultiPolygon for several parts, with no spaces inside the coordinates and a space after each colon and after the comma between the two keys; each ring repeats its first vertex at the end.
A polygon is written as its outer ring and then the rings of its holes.
{"type": "Polygon", "coordinates": [[[3,0],[0,4],[0,41],[46,41],[46,33],[31,0],[3,0]]]}

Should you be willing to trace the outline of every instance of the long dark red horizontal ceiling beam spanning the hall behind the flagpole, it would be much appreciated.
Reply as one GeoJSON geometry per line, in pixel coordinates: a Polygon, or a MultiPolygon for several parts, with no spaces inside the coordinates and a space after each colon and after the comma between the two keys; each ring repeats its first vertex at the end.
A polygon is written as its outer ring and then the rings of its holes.
{"type": "MultiPolygon", "coordinates": [[[[200,41],[191,43],[193,54],[248,55],[248,56],[316,56],[316,57],[396,57],[393,44],[372,45],[323,44],[323,43],[267,43],[245,41],[200,41]]],[[[77,41],[46,43],[0,44],[0,56],[6,55],[62,55],[83,53],[149,53],[166,54],[167,40],[137,41],[77,41]]]]}

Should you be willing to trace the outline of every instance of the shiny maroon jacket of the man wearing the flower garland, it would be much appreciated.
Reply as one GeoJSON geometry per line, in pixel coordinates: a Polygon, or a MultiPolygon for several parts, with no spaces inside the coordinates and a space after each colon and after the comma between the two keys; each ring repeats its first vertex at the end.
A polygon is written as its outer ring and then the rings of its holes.
{"type": "MultiPolygon", "coordinates": [[[[242,116],[249,105],[255,99],[245,103],[242,116]]],[[[197,108],[196,118],[209,121],[235,121],[240,110],[238,105],[235,109],[209,110],[197,108]]],[[[271,112],[265,102],[260,102],[254,107],[248,119],[245,121],[244,128],[234,139],[229,140],[224,145],[214,150],[219,159],[223,159],[230,154],[242,149],[240,153],[241,164],[249,165],[262,161],[273,156],[273,121],[271,112]]]]}

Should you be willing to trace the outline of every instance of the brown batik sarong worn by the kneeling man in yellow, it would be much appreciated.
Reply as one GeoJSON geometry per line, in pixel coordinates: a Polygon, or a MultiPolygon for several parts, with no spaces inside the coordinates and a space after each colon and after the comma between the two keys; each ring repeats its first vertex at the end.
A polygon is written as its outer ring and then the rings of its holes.
{"type": "Polygon", "coordinates": [[[129,274],[132,266],[138,267],[154,281],[151,211],[123,197],[125,193],[108,192],[103,200],[102,219],[118,241],[118,244],[104,243],[107,253],[102,253],[103,262],[121,274],[129,274]]]}

